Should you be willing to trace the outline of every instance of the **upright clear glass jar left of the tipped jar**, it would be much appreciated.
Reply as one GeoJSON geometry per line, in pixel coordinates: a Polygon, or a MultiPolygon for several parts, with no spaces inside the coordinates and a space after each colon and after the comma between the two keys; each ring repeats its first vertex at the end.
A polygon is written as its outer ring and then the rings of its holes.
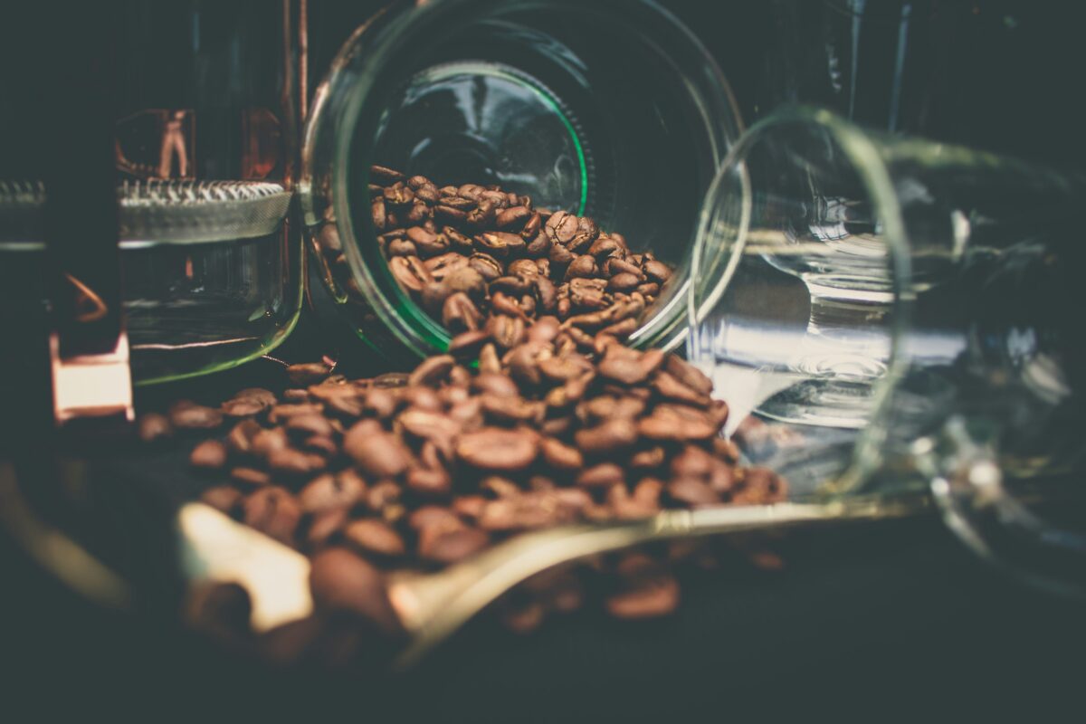
{"type": "MultiPolygon", "coordinates": [[[[299,127],[295,11],[294,3],[255,0],[88,11],[87,33],[115,56],[110,77],[96,78],[113,129],[108,178],[117,187],[119,239],[111,231],[105,242],[119,242],[119,301],[137,384],[240,365],[277,346],[298,319],[302,239],[289,218],[299,127]]],[[[18,43],[40,46],[38,35],[28,31],[4,55],[27,50],[18,43]]],[[[75,62],[73,53],[56,73],[75,62]]],[[[8,282],[0,299],[8,309],[33,313],[35,330],[59,316],[51,283],[59,255],[51,250],[51,258],[46,238],[50,189],[38,179],[74,163],[54,149],[86,115],[71,99],[27,100],[49,79],[34,71],[0,74],[9,91],[0,100],[0,143],[10,147],[0,154],[10,161],[0,170],[8,282]]],[[[106,192],[86,203],[110,201],[106,192]]],[[[114,259],[103,254],[99,264],[116,275],[114,259]]]]}

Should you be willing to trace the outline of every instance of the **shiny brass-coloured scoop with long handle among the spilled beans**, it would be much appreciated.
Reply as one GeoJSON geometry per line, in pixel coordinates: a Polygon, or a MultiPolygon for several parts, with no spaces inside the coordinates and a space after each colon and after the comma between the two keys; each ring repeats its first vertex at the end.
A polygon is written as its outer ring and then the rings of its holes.
{"type": "MultiPolygon", "coordinates": [[[[925,507],[923,496],[779,503],[668,510],[632,522],[522,534],[440,572],[401,574],[391,581],[389,598],[409,639],[396,665],[414,663],[502,594],[560,563],[653,541],[897,518],[925,507]]],[[[178,522],[188,574],[244,586],[252,598],[254,627],[267,630],[312,613],[310,564],[304,556],[204,504],[186,505],[178,522]]]]}

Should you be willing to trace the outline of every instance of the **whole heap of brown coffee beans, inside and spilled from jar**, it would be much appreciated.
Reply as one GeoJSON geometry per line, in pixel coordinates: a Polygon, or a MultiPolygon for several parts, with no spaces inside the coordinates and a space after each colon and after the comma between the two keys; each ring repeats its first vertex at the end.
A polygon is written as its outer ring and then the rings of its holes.
{"type": "MultiPolygon", "coordinates": [[[[728,405],[708,378],[623,345],[667,265],[496,188],[380,167],[372,177],[389,268],[454,332],[447,353],[359,380],[295,365],[280,394],[177,403],[143,425],[148,440],[217,427],[192,450],[214,478],[202,499],[312,556],[318,615],[394,633],[390,572],[437,570],[546,526],[784,498],[783,479],[741,466],[720,436],[728,405]]],[[[679,602],[672,564],[697,550],[677,543],[548,571],[500,613],[531,630],[591,588],[611,615],[661,615],[679,602]]]]}

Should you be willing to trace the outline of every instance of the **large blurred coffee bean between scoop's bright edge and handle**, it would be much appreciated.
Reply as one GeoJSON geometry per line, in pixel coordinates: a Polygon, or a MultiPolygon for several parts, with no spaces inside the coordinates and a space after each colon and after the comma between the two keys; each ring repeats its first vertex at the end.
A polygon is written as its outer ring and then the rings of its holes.
{"type": "Polygon", "coordinates": [[[327,548],[313,557],[310,587],[319,608],[351,611],[382,631],[401,630],[381,573],[345,548],[327,548]]]}

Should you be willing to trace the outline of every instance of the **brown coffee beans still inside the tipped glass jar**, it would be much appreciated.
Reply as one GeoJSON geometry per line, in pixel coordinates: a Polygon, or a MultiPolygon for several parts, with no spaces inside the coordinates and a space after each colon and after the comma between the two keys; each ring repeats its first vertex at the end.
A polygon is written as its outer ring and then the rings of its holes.
{"type": "MultiPolygon", "coordinates": [[[[475,183],[438,188],[381,166],[370,179],[389,270],[453,334],[487,331],[507,350],[533,320],[556,317],[559,345],[590,350],[593,335],[633,333],[671,278],[670,266],[634,253],[622,234],[536,208],[529,196],[475,183]]],[[[333,266],[345,265],[334,225],[318,242],[333,266]]]]}

